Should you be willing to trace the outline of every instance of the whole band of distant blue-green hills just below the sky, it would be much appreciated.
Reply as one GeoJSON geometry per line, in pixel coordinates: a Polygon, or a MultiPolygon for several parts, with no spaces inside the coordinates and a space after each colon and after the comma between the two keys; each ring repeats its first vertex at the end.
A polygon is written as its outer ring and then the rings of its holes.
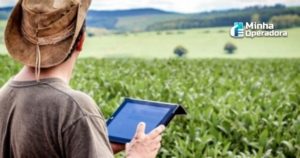
{"type": "MultiPolygon", "coordinates": [[[[144,8],[116,11],[90,11],[88,25],[116,32],[143,32],[172,29],[232,26],[236,21],[250,22],[257,15],[262,22],[273,16],[300,15],[300,7],[252,6],[244,9],[182,14],[144,8]]],[[[300,24],[299,24],[300,25],[300,24]]]]}

